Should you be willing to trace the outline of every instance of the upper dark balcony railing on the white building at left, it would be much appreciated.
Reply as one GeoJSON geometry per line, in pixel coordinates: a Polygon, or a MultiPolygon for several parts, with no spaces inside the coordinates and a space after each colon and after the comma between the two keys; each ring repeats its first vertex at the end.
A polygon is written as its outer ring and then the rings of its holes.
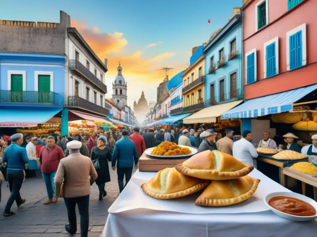
{"type": "Polygon", "coordinates": [[[107,94],[107,86],[101,82],[91,71],[89,71],[83,64],[78,60],[69,60],[69,69],[79,73],[90,82],[94,83],[102,92],[107,94]]]}

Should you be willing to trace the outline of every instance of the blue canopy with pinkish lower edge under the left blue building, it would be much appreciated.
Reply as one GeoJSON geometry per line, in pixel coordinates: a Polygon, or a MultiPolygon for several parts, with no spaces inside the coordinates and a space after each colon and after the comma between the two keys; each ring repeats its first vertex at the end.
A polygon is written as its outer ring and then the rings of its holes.
{"type": "Polygon", "coordinates": [[[54,117],[62,107],[2,107],[0,109],[1,127],[34,127],[54,117]],[[8,125],[8,126],[7,126],[8,125]]]}

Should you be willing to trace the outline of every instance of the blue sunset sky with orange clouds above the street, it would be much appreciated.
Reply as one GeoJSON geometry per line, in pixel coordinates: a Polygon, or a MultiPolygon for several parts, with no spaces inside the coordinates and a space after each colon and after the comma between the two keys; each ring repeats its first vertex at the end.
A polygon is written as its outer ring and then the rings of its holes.
{"type": "Polygon", "coordinates": [[[59,10],[65,11],[101,60],[108,58],[106,97],[111,98],[120,61],[133,106],[142,90],[148,102],[156,101],[165,77],[159,69],[173,68],[169,78],[184,70],[191,48],[206,42],[228,22],[233,7],[241,6],[242,0],[10,0],[2,1],[0,19],[59,22],[59,10]]]}

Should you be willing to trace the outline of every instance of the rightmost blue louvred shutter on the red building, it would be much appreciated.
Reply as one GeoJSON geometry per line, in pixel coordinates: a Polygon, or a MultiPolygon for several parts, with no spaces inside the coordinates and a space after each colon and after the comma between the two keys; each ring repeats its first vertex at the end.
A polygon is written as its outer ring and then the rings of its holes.
{"type": "Polygon", "coordinates": [[[290,70],[302,66],[302,33],[301,31],[289,37],[289,68],[290,70]]]}

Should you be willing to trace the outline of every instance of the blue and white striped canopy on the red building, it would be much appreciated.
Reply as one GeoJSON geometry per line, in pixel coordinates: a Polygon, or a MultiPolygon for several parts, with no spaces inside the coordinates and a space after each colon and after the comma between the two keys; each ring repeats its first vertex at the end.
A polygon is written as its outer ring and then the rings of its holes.
{"type": "Polygon", "coordinates": [[[289,112],[293,109],[294,102],[316,89],[317,84],[314,84],[278,94],[245,100],[243,104],[223,113],[221,118],[253,118],[267,114],[289,112]]]}

